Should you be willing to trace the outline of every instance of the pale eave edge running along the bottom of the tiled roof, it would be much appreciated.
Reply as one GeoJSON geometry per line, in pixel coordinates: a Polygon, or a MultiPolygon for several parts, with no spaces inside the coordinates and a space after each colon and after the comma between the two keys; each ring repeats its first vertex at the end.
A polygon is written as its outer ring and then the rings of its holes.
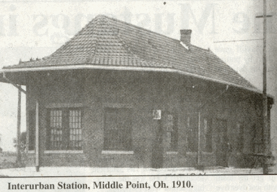
{"type": "MultiPolygon", "coordinates": [[[[205,79],[208,81],[214,81],[220,84],[226,84],[229,86],[234,86],[237,88],[242,88],[244,90],[249,90],[254,93],[262,94],[262,91],[252,88],[246,88],[238,84],[232,84],[227,81],[222,81],[218,79],[203,77],[201,75],[196,75],[193,73],[187,73],[183,70],[177,68],[169,67],[146,67],[146,66],[105,66],[105,65],[69,65],[69,66],[42,66],[42,67],[26,67],[26,68],[3,68],[0,73],[19,73],[19,72],[35,72],[35,71],[44,71],[44,70],[74,70],[74,69],[103,69],[103,70],[134,70],[134,71],[156,71],[156,72],[167,72],[167,73],[179,73],[181,75],[188,75],[190,77],[197,77],[199,79],[205,79]]],[[[268,97],[272,97],[268,95],[268,97]]]]}

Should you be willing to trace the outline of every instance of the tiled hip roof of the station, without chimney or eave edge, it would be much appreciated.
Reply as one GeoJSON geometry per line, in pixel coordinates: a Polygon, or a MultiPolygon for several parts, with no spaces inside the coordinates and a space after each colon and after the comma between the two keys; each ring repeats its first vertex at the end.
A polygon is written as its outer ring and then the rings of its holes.
{"type": "Polygon", "coordinates": [[[52,55],[5,68],[69,65],[173,68],[188,75],[258,91],[211,50],[98,15],[52,55]]]}

